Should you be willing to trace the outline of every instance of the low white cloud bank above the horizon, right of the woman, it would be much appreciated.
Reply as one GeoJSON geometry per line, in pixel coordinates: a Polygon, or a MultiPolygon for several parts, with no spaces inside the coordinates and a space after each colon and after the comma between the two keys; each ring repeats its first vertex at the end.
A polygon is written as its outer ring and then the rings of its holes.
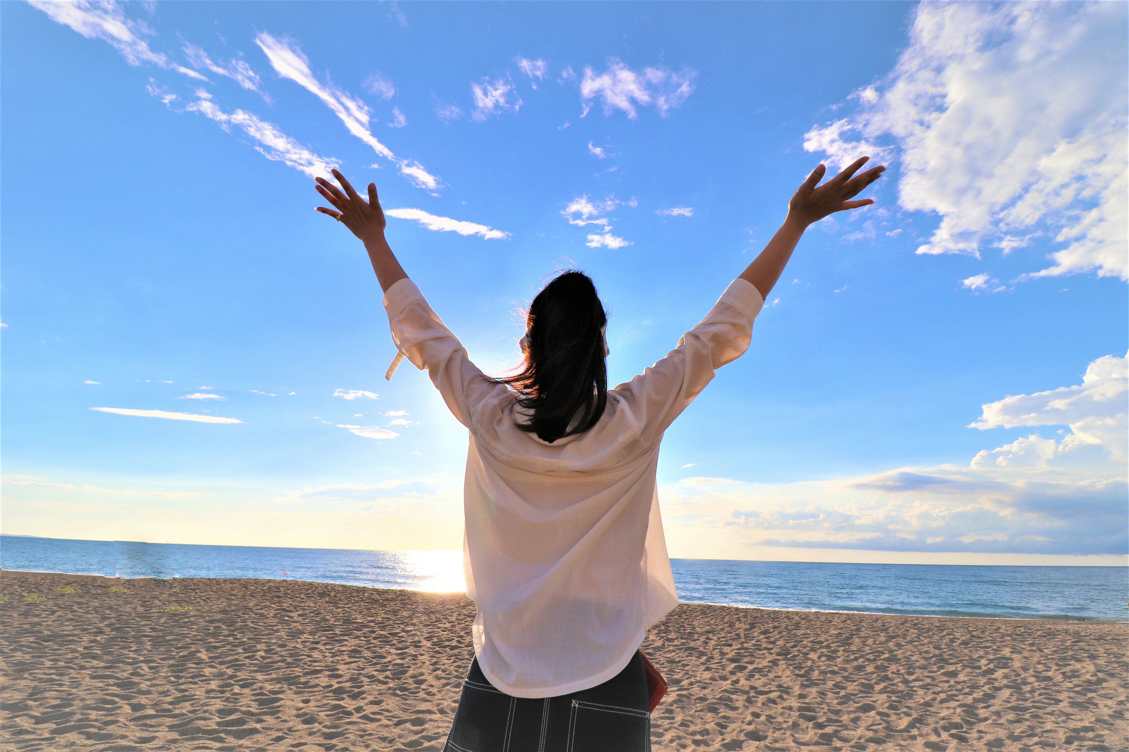
{"type": "Polygon", "coordinates": [[[1061,439],[1016,437],[965,466],[794,484],[682,480],[659,492],[667,538],[677,549],[697,541],[699,550],[1123,556],[1126,371],[1124,357],[1108,355],[1089,364],[1082,384],[984,405],[972,427],[1069,430],[1061,439]]]}

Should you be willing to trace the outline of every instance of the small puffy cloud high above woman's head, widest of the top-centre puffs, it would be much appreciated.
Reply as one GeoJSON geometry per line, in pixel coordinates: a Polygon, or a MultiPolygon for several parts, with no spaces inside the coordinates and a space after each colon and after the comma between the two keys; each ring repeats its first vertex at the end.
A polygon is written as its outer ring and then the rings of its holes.
{"type": "Polygon", "coordinates": [[[694,91],[698,73],[683,69],[675,73],[666,68],[645,68],[633,71],[622,61],[611,57],[607,70],[598,76],[592,68],[584,69],[580,81],[580,103],[584,115],[588,114],[594,99],[603,101],[604,115],[622,109],[628,117],[638,116],[636,106],[651,105],[659,115],[666,117],[671,109],[680,107],[694,91]]]}

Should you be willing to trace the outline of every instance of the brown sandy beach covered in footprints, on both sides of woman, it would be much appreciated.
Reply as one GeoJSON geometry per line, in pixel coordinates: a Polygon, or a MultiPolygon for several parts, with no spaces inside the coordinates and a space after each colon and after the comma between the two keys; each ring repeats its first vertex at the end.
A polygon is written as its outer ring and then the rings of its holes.
{"type": "MultiPolygon", "coordinates": [[[[440,750],[472,657],[463,595],[19,572],[0,593],[2,750],[440,750]]],[[[671,683],[655,750],[1129,749],[1124,623],[683,604],[642,649],[671,683]]]]}

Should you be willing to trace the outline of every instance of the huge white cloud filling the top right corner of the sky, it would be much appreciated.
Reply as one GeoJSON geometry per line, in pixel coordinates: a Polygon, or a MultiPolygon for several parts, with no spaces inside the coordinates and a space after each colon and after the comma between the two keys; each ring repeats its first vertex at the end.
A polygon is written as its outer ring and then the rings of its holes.
{"type": "Polygon", "coordinates": [[[1129,280],[1124,3],[921,3],[894,70],[804,148],[901,160],[899,203],[937,213],[919,254],[980,255],[1047,233],[1025,276],[1129,280]],[[878,143],[878,142],[882,143],[878,143]]]}

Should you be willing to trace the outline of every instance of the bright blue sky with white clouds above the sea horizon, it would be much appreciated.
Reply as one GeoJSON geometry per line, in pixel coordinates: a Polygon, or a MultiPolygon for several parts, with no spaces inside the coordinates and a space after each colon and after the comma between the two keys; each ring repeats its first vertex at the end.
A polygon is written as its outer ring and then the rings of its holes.
{"type": "Polygon", "coordinates": [[[1123,3],[0,14],[7,533],[458,547],[465,432],[384,381],[310,172],[377,184],[488,371],[587,271],[624,381],[872,153],[877,205],[808,230],[666,435],[672,555],[1126,560],[1123,3]]]}

